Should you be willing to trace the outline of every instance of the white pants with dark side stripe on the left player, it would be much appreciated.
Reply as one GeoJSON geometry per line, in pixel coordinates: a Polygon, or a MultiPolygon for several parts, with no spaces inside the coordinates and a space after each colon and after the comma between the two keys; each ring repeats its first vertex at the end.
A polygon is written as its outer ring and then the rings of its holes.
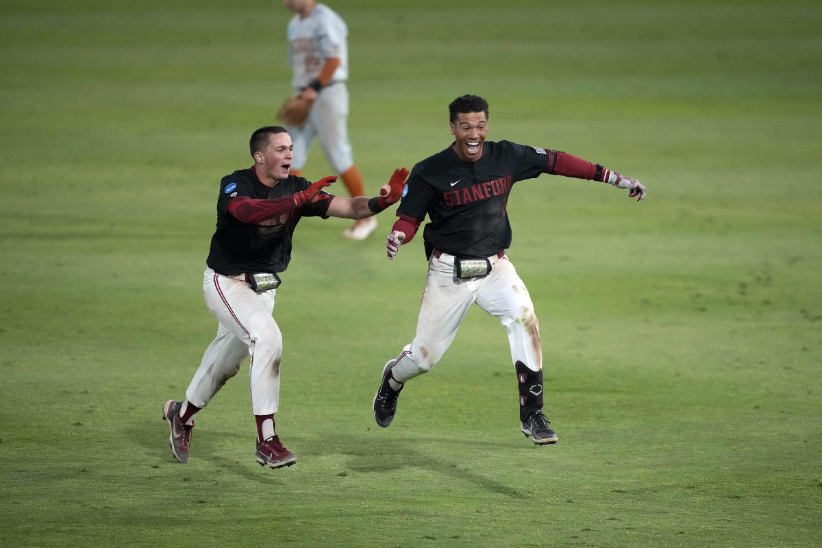
{"type": "Polygon", "coordinates": [[[205,306],[219,320],[219,326],[188,385],[186,398],[205,408],[250,356],[252,412],[270,415],[279,407],[279,363],[283,356],[283,335],[271,317],[277,290],[256,293],[244,279],[242,274],[224,276],[205,269],[205,306]]]}

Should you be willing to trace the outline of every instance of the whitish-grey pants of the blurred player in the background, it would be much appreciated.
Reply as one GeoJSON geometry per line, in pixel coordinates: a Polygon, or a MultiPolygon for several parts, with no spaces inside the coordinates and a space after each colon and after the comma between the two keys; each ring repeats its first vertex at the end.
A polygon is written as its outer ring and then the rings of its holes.
{"type": "Polygon", "coordinates": [[[302,127],[286,126],[294,145],[291,168],[302,170],[314,139],[335,173],[345,173],[354,164],[349,142],[349,90],[344,82],[322,88],[302,127]]]}

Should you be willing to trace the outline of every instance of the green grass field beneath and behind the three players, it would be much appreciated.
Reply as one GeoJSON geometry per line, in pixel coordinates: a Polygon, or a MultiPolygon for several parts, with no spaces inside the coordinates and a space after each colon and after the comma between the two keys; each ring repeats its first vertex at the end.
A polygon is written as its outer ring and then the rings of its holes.
{"type": "MultiPolygon", "coordinates": [[[[289,93],[280,2],[0,7],[0,546],[820,546],[819,2],[329,2],[375,194],[489,139],[638,177],[515,187],[509,251],[543,335],[546,412],[519,431],[504,329],[475,309],[374,424],[413,337],[421,238],[385,258],[305,219],[278,292],[278,431],[253,459],[247,365],[173,461],[216,322],[201,274],[220,177],[289,93]]],[[[306,176],[330,174],[317,146],[306,176]]],[[[344,190],[337,189],[340,193],[344,190]]]]}

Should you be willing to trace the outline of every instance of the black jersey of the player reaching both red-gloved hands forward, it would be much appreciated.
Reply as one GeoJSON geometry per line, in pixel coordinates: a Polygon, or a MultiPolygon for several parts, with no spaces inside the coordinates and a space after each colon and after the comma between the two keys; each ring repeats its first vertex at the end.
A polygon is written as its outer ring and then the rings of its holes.
{"type": "MultiPolygon", "coordinates": [[[[321,216],[331,200],[318,200],[303,205],[290,214],[268,219],[260,224],[248,224],[229,213],[229,202],[237,196],[252,200],[269,200],[292,196],[311,186],[302,177],[289,175],[275,187],[266,187],[253,169],[239,169],[219,182],[217,198],[217,230],[211,237],[211,249],[205,263],[215,272],[225,275],[258,272],[282,272],[291,260],[291,237],[301,217],[321,216]]],[[[326,194],[326,192],[323,192],[326,194]]]]}

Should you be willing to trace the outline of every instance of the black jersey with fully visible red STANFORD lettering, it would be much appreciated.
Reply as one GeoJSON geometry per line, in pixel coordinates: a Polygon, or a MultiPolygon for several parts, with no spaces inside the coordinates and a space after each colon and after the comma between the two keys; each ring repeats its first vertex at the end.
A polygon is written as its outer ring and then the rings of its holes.
{"type": "Polygon", "coordinates": [[[428,214],[427,256],[432,249],[459,257],[492,256],[511,243],[506,212],[511,187],[550,171],[556,154],[507,140],[485,141],[483,156],[471,163],[452,146],[413,167],[397,215],[422,221],[428,214]]]}

